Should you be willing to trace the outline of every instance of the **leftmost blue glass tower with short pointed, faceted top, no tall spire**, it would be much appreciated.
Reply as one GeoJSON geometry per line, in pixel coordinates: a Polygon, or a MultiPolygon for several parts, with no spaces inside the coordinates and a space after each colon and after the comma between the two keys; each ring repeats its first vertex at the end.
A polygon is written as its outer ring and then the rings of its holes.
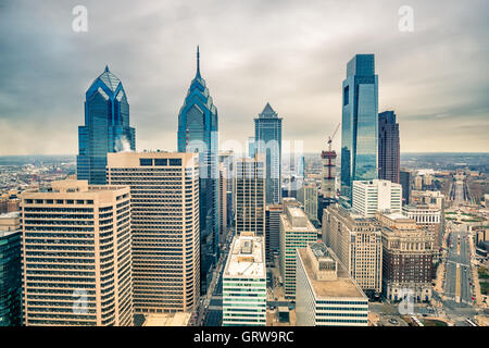
{"type": "Polygon", "coordinates": [[[129,104],[121,80],[105,66],[85,95],[85,126],[78,127],[78,179],[105,184],[106,153],[136,150],[129,104]]]}

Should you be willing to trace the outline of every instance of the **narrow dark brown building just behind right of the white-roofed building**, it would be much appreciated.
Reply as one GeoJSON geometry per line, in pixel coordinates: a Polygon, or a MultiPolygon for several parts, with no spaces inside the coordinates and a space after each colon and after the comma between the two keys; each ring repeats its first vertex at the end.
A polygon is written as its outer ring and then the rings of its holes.
{"type": "Polygon", "coordinates": [[[268,204],[265,210],[266,265],[272,266],[280,252],[280,214],[283,204],[268,204]]]}

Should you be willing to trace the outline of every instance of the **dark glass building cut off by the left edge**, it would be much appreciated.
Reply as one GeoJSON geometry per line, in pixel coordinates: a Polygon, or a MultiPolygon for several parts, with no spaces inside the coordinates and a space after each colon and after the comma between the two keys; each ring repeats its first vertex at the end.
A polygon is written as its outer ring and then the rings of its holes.
{"type": "Polygon", "coordinates": [[[22,249],[18,212],[0,214],[0,326],[22,325],[22,249]]]}

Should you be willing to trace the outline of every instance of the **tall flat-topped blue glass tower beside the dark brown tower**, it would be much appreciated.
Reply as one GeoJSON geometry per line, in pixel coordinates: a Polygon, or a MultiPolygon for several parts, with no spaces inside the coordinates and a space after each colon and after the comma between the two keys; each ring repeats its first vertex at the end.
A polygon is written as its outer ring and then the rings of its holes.
{"type": "Polygon", "coordinates": [[[341,123],[341,196],[352,182],[377,178],[378,76],[374,54],[356,54],[347,65],[341,123]]]}

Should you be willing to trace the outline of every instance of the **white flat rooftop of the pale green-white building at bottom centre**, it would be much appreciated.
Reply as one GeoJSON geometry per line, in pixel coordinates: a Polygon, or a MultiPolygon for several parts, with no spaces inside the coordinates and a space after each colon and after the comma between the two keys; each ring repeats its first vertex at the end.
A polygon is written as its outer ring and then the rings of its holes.
{"type": "Polygon", "coordinates": [[[264,250],[262,237],[235,236],[224,276],[265,277],[264,250]]]}

